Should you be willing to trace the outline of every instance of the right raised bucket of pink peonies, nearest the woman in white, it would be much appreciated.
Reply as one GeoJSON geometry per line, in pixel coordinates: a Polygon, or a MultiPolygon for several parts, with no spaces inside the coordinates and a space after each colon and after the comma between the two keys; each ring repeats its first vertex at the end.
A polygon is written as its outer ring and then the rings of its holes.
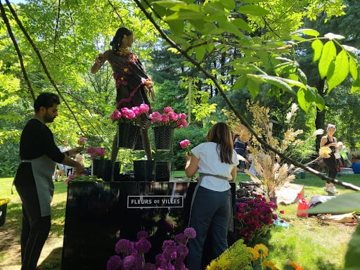
{"type": "Polygon", "coordinates": [[[185,113],[175,113],[171,107],[165,107],[163,113],[155,111],[149,115],[153,124],[155,148],[157,150],[170,149],[174,128],[181,129],[188,126],[185,113]]]}

